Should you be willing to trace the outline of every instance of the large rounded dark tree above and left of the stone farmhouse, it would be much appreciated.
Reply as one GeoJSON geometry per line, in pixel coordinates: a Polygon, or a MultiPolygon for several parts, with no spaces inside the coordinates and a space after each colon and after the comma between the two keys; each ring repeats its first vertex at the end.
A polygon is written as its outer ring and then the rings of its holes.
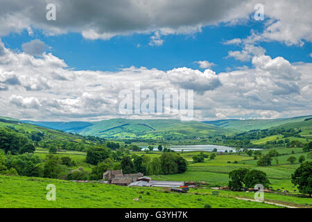
{"type": "Polygon", "coordinates": [[[111,156],[110,148],[105,146],[96,146],[87,149],[86,162],[89,164],[98,164],[111,156]]]}

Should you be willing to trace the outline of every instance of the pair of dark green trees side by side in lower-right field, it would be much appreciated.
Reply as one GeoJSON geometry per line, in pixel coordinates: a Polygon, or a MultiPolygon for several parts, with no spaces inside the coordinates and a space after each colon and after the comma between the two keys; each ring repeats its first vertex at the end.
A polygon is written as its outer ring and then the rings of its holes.
{"type": "Polygon", "coordinates": [[[229,172],[229,189],[239,191],[243,188],[253,188],[257,184],[267,188],[270,185],[268,176],[263,171],[256,169],[249,170],[245,168],[236,169],[229,172]]]}

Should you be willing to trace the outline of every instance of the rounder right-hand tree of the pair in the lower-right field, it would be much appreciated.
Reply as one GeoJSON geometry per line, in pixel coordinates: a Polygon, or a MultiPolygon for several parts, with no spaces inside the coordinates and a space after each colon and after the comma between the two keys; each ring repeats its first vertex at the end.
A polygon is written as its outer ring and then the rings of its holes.
{"type": "Polygon", "coordinates": [[[258,184],[263,185],[264,188],[267,188],[268,185],[270,185],[270,181],[268,180],[266,173],[257,169],[253,169],[246,173],[245,177],[243,178],[243,182],[248,188],[253,188],[258,184]]]}

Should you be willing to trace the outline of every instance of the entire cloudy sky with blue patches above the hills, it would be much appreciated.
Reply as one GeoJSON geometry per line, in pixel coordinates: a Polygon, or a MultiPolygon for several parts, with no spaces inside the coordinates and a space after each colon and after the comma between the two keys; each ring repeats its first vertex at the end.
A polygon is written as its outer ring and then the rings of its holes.
{"type": "Polygon", "coordinates": [[[312,114],[311,11],[310,0],[0,0],[0,115],[175,118],[121,114],[119,92],[135,85],[193,89],[197,120],[312,114]]]}

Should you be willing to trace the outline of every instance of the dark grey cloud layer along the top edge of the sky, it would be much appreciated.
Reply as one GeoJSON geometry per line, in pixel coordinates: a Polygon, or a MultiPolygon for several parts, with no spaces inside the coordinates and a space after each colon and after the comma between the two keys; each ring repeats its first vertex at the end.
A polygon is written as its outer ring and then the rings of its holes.
{"type": "MultiPolygon", "coordinates": [[[[33,28],[40,28],[47,35],[81,33],[91,40],[157,31],[161,35],[189,34],[208,25],[236,24],[253,19],[250,15],[254,13],[254,5],[261,3],[268,21],[262,33],[248,38],[250,44],[279,41],[287,45],[302,45],[304,40],[312,41],[312,2],[306,0],[51,0],[49,3],[56,6],[55,21],[46,20],[45,0],[2,0],[0,35],[23,29],[33,35],[33,28]]],[[[162,44],[157,34],[153,37],[154,45],[162,44]]],[[[240,40],[231,41],[227,43],[238,44],[240,40]]]]}

